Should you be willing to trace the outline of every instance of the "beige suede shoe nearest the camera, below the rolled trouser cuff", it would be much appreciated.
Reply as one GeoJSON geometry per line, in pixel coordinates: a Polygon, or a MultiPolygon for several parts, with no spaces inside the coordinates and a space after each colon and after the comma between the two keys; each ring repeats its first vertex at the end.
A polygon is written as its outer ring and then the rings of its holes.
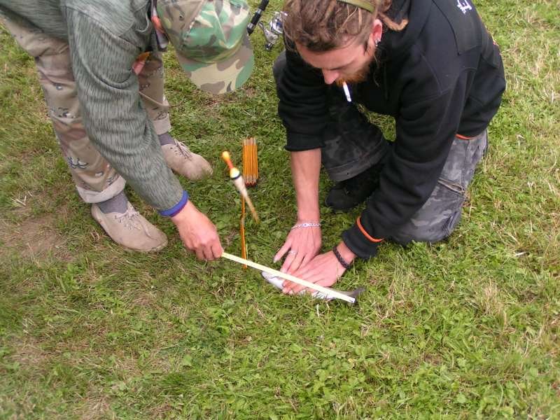
{"type": "Polygon", "coordinates": [[[165,233],[140,216],[130,203],[125,213],[107,214],[92,204],[92,216],[113,241],[132,251],[160,251],[167,245],[165,233]]]}

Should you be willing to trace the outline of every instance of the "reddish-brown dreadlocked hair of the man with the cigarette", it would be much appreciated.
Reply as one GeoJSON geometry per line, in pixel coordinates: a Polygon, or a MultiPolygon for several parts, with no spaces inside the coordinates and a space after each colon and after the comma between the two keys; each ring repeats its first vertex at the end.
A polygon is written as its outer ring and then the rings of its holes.
{"type": "Polygon", "coordinates": [[[374,13],[338,0],[286,0],[284,36],[311,51],[322,52],[341,47],[349,38],[366,43],[376,18],[386,29],[400,31],[406,27],[407,19],[395,23],[386,15],[393,0],[366,1],[372,3],[374,13]]]}

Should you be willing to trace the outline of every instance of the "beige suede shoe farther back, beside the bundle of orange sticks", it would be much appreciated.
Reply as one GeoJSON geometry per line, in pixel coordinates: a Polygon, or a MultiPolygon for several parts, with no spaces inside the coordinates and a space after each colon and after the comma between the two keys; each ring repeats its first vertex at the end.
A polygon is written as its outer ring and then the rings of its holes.
{"type": "Polygon", "coordinates": [[[162,146],[163,157],[167,165],[177,174],[181,174],[191,181],[206,178],[212,174],[209,162],[189,150],[187,146],[174,139],[174,144],[162,146]]]}

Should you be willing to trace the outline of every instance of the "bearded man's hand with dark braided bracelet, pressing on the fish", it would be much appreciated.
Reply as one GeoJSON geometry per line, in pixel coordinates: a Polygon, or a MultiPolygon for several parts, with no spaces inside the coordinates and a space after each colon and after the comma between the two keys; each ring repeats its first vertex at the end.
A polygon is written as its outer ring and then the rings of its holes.
{"type": "MultiPolygon", "coordinates": [[[[356,258],[356,255],[349,250],[344,242],[341,242],[337,248],[342,258],[344,258],[347,263],[351,263],[353,259],[356,258]]],[[[300,279],[311,281],[311,283],[316,283],[319,286],[330,287],[337,282],[345,271],[346,269],[336,258],[335,253],[329,251],[316,255],[316,257],[306,265],[302,265],[299,269],[290,274],[300,279]]],[[[304,286],[286,280],[283,283],[282,293],[297,295],[297,293],[300,293],[300,290],[304,288],[304,286]]]]}

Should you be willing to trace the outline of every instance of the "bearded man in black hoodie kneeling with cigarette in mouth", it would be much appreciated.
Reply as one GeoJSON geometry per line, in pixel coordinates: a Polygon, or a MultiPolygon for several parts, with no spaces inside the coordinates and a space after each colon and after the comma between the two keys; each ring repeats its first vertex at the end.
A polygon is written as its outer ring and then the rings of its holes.
{"type": "MultiPolygon", "coordinates": [[[[274,76],[297,222],[275,260],[287,255],[284,272],[331,286],[385,239],[451,233],[505,90],[503,64],[470,0],[288,0],[284,10],[274,76]],[[355,104],[393,116],[394,143],[355,104]],[[318,254],[321,162],[339,182],[328,206],[369,199],[342,241],[318,254]]],[[[300,290],[284,283],[284,293],[300,290]]]]}

